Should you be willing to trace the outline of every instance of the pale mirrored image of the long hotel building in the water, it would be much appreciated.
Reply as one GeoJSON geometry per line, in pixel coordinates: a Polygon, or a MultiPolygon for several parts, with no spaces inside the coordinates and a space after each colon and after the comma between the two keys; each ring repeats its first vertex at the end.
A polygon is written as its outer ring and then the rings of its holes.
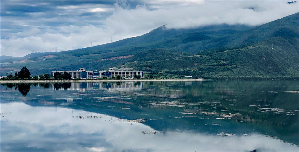
{"type": "Polygon", "coordinates": [[[52,90],[108,90],[108,91],[125,91],[125,90],[141,90],[144,82],[82,82],[82,83],[55,83],[52,84],[52,90]]]}

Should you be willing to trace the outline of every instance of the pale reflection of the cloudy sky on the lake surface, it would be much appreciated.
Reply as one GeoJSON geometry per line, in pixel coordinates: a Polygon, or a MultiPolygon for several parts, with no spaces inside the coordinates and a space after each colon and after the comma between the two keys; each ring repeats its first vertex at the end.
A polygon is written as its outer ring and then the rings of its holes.
{"type": "MultiPolygon", "coordinates": [[[[272,137],[217,136],[181,131],[155,135],[142,123],[58,107],[0,104],[1,151],[298,151],[272,137]],[[85,116],[80,119],[77,116],[85,116]],[[98,118],[95,118],[98,116],[98,118]]],[[[152,120],[154,121],[154,120],[152,120]]]]}

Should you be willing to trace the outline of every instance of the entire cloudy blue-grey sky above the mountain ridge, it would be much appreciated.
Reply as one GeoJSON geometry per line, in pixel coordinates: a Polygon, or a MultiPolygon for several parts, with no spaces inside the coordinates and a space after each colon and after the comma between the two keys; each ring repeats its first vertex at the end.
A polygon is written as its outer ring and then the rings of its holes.
{"type": "Polygon", "coordinates": [[[290,0],[1,0],[0,54],[66,51],[141,36],[165,25],[259,26],[299,12],[290,0]]]}

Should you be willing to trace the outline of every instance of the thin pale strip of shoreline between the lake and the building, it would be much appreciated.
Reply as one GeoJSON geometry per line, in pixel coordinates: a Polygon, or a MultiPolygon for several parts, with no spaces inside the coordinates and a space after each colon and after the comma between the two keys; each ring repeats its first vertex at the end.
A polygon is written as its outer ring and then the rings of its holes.
{"type": "Polygon", "coordinates": [[[56,83],[56,82],[144,82],[144,81],[204,81],[204,79],[127,79],[127,80],[1,80],[2,83],[56,83]]]}

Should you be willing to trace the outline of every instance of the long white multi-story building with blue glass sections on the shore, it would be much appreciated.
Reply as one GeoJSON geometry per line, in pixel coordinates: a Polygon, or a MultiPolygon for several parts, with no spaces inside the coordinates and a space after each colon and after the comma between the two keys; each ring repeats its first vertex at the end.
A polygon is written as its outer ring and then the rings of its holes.
{"type": "Polygon", "coordinates": [[[134,75],[140,75],[143,76],[142,71],[131,71],[131,70],[114,70],[113,68],[110,68],[108,71],[85,71],[84,68],[80,68],[79,70],[75,71],[52,71],[51,75],[52,78],[54,78],[54,73],[59,72],[63,74],[64,72],[68,72],[71,74],[72,79],[78,79],[78,78],[87,78],[87,79],[97,79],[97,78],[103,78],[106,77],[116,77],[117,75],[120,75],[121,77],[129,76],[130,78],[134,78],[134,75]]]}

